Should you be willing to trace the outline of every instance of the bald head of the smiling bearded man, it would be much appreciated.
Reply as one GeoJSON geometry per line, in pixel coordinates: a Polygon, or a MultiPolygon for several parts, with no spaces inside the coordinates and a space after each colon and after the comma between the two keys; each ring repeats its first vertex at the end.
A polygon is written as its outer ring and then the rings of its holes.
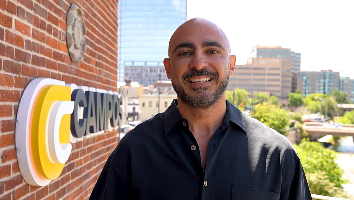
{"type": "Polygon", "coordinates": [[[194,18],[173,33],[164,65],[184,104],[208,108],[224,95],[235,60],[225,33],[210,21],[194,18]]]}

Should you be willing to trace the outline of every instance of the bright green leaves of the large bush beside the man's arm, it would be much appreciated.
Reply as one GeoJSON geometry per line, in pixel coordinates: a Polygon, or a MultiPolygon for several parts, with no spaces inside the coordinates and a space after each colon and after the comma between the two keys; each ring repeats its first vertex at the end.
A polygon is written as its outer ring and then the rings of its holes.
{"type": "MultiPolygon", "coordinates": [[[[322,177],[327,176],[329,182],[332,183],[331,186],[337,188],[343,188],[342,184],[348,182],[348,180],[342,178],[343,170],[335,162],[337,159],[337,153],[335,151],[324,148],[321,143],[306,139],[303,139],[299,145],[295,144],[294,147],[299,154],[302,166],[308,177],[312,176],[311,174],[321,174],[322,177]]],[[[315,177],[319,178],[318,175],[315,177]]],[[[313,183],[318,187],[327,187],[326,183],[323,183],[321,179],[314,180],[313,183]]],[[[317,190],[314,186],[310,187],[310,190],[314,193],[315,191],[322,192],[321,190],[317,190]]],[[[321,193],[320,195],[326,194],[321,193]]]]}

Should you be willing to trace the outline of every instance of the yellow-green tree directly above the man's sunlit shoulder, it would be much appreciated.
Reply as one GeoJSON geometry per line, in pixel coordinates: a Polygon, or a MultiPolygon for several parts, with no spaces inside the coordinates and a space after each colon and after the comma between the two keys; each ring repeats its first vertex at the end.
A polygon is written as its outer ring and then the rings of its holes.
{"type": "Polygon", "coordinates": [[[270,128],[275,129],[282,135],[288,133],[290,125],[288,113],[286,110],[279,108],[269,102],[262,102],[254,106],[251,116],[260,122],[267,124],[270,128]]]}

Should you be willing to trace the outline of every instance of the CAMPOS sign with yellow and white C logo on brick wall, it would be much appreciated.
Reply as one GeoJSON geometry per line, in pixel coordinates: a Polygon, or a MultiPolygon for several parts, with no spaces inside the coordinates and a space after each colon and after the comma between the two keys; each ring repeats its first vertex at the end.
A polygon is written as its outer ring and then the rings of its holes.
{"type": "Polygon", "coordinates": [[[36,78],[25,88],[16,121],[17,160],[30,185],[59,177],[77,139],[118,128],[117,92],[36,78]]]}

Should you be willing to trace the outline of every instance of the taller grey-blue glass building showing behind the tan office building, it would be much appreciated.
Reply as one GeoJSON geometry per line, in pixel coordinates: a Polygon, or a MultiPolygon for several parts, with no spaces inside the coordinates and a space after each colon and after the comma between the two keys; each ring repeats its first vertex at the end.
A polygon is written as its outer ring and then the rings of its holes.
{"type": "MultiPolygon", "coordinates": [[[[290,49],[282,48],[281,46],[253,46],[251,57],[266,58],[279,57],[283,61],[291,62],[291,91],[295,92],[297,87],[297,74],[300,71],[301,53],[296,53],[290,49]]],[[[288,69],[284,69],[288,70],[288,69]]],[[[287,71],[285,71],[287,72],[287,71]]]]}

